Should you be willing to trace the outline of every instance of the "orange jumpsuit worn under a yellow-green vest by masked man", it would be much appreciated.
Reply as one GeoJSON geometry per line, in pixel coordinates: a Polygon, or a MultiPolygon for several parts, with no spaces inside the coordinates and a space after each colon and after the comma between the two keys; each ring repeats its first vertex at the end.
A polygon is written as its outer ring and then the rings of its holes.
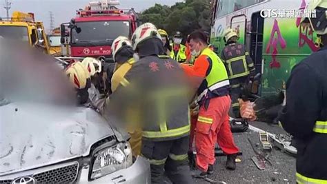
{"type": "MultiPolygon", "coordinates": [[[[210,70],[210,62],[205,55],[200,55],[195,60],[194,66],[182,64],[181,67],[184,68],[188,76],[205,78],[208,70],[210,70]]],[[[208,165],[215,163],[216,141],[225,154],[237,154],[239,152],[230,131],[228,116],[230,103],[229,95],[215,97],[210,99],[210,105],[207,110],[204,108],[204,105],[201,105],[198,116],[192,116],[190,146],[195,136],[197,167],[202,171],[206,172],[208,165]],[[212,119],[212,124],[204,123],[201,119],[212,119]]]]}

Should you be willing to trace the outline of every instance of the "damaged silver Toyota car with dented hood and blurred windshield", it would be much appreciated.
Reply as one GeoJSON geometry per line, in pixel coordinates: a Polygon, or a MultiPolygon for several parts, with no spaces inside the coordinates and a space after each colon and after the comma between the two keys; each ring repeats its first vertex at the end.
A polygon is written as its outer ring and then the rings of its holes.
{"type": "Polygon", "coordinates": [[[132,158],[126,132],[67,103],[57,70],[9,47],[0,50],[1,184],[150,183],[150,165],[132,158]]]}

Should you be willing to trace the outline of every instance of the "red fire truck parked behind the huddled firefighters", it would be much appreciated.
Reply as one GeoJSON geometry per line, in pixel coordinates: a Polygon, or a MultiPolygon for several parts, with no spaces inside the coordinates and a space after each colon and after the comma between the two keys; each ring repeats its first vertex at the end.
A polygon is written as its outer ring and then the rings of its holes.
{"type": "Polygon", "coordinates": [[[111,45],[119,36],[130,38],[139,25],[135,10],[121,10],[119,1],[92,1],[77,17],[61,24],[63,56],[112,61],[111,45]]]}

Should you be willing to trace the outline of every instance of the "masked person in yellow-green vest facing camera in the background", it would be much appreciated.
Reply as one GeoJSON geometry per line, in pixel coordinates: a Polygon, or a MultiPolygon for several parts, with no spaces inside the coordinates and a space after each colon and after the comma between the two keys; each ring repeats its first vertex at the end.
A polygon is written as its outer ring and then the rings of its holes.
{"type": "Polygon", "coordinates": [[[181,44],[183,37],[181,32],[177,31],[173,37],[173,43],[170,44],[171,52],[170,57],[179,63],[186,61],[186,46],[181,44]]]}

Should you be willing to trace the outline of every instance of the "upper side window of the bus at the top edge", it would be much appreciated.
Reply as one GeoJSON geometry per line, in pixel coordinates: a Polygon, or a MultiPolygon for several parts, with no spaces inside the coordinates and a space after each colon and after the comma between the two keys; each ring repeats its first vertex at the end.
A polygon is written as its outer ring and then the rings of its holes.
{"type": "Polygon", "coordinates": [[[241,10],[256,3],[261,3],[266,0],[218,0],[217,17],[223,17],[237,10],[241,10]]]}

